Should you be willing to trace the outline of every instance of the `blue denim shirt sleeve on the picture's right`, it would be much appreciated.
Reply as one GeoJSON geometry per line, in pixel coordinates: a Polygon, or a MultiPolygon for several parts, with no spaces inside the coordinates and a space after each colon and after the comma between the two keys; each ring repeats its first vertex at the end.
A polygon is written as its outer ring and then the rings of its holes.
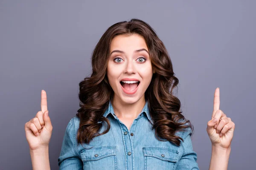
{"type": "Polygon", "coordinates": [[[192,131],[190,128],[186,128],[183,133],[183,140],[181,145],[183,147],[183,154],[180,160],[177,162],[176,170],[199,170],[197,161],[197,153],[193,151],[191,141],[192,131]]]}

